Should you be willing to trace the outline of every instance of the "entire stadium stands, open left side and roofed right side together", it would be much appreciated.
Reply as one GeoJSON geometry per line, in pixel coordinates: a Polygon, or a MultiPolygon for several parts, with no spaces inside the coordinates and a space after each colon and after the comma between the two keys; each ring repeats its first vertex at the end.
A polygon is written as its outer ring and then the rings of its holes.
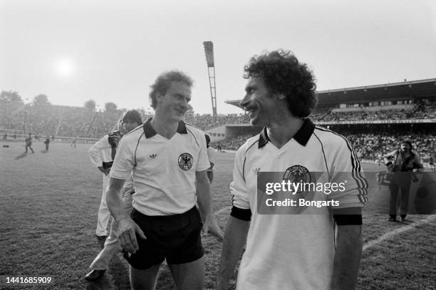
{"type": "MultiPolygon", "coordinates": [[[[375,160],[380,154],[394,150],[400,139],[410,139],[421,158],[436,150],[436,79],[405,83],[343,88],[318,92],[319,103],[311,119],[348,138],[361,159],[375,160]]],[[[239,106],[239,100],[227,101],[239,106]]],[[[17,100],[1,100],[0,131],[17,130],[56,137],[101,138],[113,130],[123,110],[89,110],[87,108],[27,104],[17,100]]],[[[150,117],[142,112],[144,120],[150,117]]],[[[185,121],[206,131],[225,125],[224,140],[213,147],[237,150],[247,138],[259,133],[249,126],[244,113],[195,114],[185,121]]],[[[224,133],[222,134],[224,135],[224,133]]]]}

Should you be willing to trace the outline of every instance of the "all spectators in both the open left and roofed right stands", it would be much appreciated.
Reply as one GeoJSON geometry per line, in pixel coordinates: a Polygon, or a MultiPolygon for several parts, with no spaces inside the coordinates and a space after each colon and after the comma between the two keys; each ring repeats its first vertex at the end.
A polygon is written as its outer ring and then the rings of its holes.
{"type": "MultiPolygon", "coordinates": [[[[144,120],[150,117],[140,110],[144,120]]],[[[21,130],[34,135],[54,135],[59,137],[101,138],[111,132],[117,124],[123,110],[110,108],[107,110],[90,110],[85,107],[71,107],[61,105],[27,104],[19,101],[1,102],[0,128],[6,130],[21,130]]],[[[436,103],[417,103],[410,109],[393,110],[357,110],[353,112],[333,112],[332,108],[316,108],[311,119],[317,121],[355,121],[355,120],[410,120],[436,118],[436,103]]],[[[202,129],[209,130],[226,124],[247,124],[248,115],[219,114],[213,118],[210,114],[195,114],[190,111],[185,115],[185,121],[202,129]]],[[[355,134],[340,132],[345,135],[356,150],[360,159],[375,160],[378,154],[385,154],[394,150],[392,144],[396,140],[410,139],[416,146],[420,157],[426,157],[435,150],[436,135],[411,133],[400,135],[392,133],[355,134]]],[[[238,135],[212,143],[213,147],[223,150],[237,150],[252,134],[238,135]]],[[[9,135],[12,138],[12,135],[9,135]]],[[[22,138],[24,138],[22,136],[22,138]]]]}

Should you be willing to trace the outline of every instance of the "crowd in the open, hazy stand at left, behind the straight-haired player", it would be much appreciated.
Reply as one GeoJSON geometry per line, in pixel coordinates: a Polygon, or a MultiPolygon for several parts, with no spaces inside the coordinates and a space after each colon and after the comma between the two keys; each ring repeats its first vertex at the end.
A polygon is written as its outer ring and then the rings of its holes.
{"type": "MultiPolygon", "coordinates": [[[[57,135],[59,137],[100,138],[113,130],[123,112],[120,109],[89,110],[83,107],[63,105],[33,105],[24,103],[2,103],[0,128],[22,130],[39,135],[57,135]]],[[[150,117],[140,110],[144,120],[150,117]]],[[[249,123],[245,114],[219,114],[214,119],[210,114],[187,113],[185,121],[208,130],[220,125],[249,123]]]]}

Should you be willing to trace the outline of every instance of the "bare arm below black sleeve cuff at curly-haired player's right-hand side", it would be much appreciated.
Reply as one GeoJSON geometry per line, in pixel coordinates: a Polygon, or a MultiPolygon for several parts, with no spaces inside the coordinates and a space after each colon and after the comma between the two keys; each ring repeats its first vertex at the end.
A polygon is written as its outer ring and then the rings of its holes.
{"type": "Polygon", "coordinates": [[[333,290],[355,289],[362,256],[362,226],[338,226],[333,264],[333,290]]]}

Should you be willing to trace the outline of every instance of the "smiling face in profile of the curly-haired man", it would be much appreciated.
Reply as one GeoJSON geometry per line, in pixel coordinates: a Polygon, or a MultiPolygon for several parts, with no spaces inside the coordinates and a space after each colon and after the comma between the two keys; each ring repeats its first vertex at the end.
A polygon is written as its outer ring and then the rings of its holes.
{"type": "Polygon", "coordinates": [[[269,126],[278,111],[279,101],[276,96],[266,88],[261,77],[249,78],[245,92],[239,105],[249,113],[251,125],[269,126]]]}

